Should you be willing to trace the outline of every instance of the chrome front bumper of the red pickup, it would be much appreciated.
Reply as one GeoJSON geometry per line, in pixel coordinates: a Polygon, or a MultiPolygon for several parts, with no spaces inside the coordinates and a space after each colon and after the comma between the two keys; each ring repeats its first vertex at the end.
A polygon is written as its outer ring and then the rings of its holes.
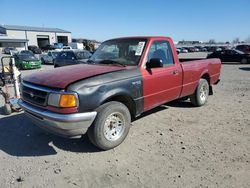
{"type": "Polygon", "coordinates": [[[79,138],[85,134],[97,114],[97,112],[58,114],[34,107],[21,99],[18,103],[37,126],[54,134],[70,138],[79,138]]]}

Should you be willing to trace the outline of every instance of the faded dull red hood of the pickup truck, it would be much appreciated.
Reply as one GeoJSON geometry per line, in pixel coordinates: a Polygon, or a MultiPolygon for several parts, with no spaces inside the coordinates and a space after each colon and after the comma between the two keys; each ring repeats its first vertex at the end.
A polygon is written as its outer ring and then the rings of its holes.
{"type": "Polygon", "coordinates": [[[65,89],[69,84],[78,80],[124,69],[126,67],[79,64],[36,72],[25,76],[23,80],[41,86],[65,89]]]}

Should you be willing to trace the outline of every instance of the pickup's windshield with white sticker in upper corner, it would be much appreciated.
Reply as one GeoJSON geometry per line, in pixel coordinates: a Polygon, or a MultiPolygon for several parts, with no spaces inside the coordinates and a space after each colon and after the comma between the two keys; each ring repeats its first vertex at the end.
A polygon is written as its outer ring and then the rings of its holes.
{"type": "MultiPolygon", "coordinates": [[[[101,44],[96,52],[91,56],[89,62],[103,63],[117,62],[122,65],[139,64],[146,39],[114,39],[101,44]]],[[[114,63],[112,63],[114,64],[114,63]]]]}

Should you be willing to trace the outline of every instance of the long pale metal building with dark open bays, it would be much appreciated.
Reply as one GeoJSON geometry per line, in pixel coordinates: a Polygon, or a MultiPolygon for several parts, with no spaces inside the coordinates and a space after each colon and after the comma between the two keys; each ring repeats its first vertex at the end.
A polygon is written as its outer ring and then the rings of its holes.
{"type": "Polygon", "coordinates": [[[30,45],[40,48],[53,43],[68,45],[71,32],[58,28],[0,25],[0,48],[27,49],[30,45]]]}

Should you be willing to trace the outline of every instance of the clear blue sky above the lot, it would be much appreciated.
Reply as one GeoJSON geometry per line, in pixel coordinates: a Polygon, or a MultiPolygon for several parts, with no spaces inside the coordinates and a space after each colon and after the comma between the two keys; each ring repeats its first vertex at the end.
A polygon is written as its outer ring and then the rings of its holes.
{"type": "Polygon", "coordinates": [[[250,0],[0,0],[1,24],[99,41],[147,35],[232,42],[250,37],[250,0]]]}

